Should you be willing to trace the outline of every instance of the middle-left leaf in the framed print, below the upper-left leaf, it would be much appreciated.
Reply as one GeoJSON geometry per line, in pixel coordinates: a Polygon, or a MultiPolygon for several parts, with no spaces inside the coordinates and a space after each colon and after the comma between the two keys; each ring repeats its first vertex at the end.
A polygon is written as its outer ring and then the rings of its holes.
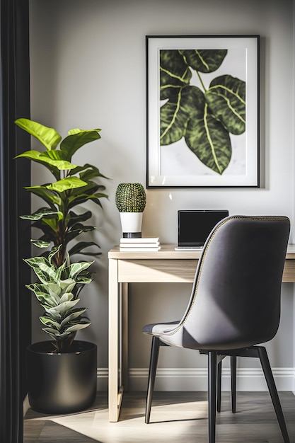
{"type": "Polygon", "coordinates": [[[160,144],[178,142],[184,135],[187,123],[195,115],[204,115],[204,94],[196,86],[180,88],[177,96],[161,107],[160,144]]]}

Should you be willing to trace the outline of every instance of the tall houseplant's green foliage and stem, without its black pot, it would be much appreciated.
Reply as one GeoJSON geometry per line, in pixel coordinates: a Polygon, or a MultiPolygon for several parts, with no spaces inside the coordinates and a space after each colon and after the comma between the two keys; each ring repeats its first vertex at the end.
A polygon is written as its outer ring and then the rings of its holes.
{"type": "Polygon", "coordinates": [[[84,284],[91,282],[88,267],[91,262],[73,265],[72,257],[79,255],[100,255],[99,246],[93,241],[71,243],[80,234],[96,229],[85,224],[92,217],[90,210],[77,211],[76,207],[93,202],[101,207],[100,200],[108,197],[105,186],[94,179],[106,178],[96,166],[89,163],[78,166],[72,157],[82,146],[100,139],[100,130],[73,129],[62,139],[53,128],[39,122],[20,118],[16,125],[33,135],[44,146],[42,151],[24,151],[16,158],[24,158],[44,166],[54,180],[25,188],[40,197],[42,206],[33,214],[23,215],[39,229],[39,238],[33,238],[33,245],[42,248],[41,256],[26,260],[33,267],[40,280],[39,284],[28,285],[45,315],[40,321],[50,335],[57,352],[65,352],[74,340],[76,331],[90,323],[81,319],[84,308],[74,308],[84,284]],[[59,145],[59,148],[58,148],[59,145]],[[95,248],[95,251],[89,250],[95,248]],[[43,251],[43,248],[45,250],[43,251]]]}

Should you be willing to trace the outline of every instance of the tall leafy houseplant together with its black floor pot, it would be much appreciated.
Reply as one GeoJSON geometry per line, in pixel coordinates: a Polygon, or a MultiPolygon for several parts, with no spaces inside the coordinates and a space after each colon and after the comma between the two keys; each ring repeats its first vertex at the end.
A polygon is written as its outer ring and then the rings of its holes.
{"type": "Polygon", "coordinates": [[[108,197],[105,186],[97,183],[106,178],[98,168],[89,163],[79,166],[72,157],[85,144],[100,139],[100,130],[74,129],[62,139],[53,128],[33,120],[20,118],[16,125],[43,145],[17,158],[33,161],[52,174],[52,183],[47,179],[25,188],[42,200],[42,206],[21,217],[32,222],[33,234],[40,233],[31,240],[41,249],[40,255],[25,258],[39,282],[27,287],[44,309],[40,322],[50,338],[28,347],[28,398],[37,411],[72,413],[93,403],[97,374],[96,344],[75,339],[77,331],[90,325],[79,300],[81,289],[92,280],[88,268],[93,262],[73,257],[100,255],[97,243],[79,241],[81,235],[96,229],[85,223],[92,212],[83,206],[92,202],[101,207],[100,200],[108,197]]]}

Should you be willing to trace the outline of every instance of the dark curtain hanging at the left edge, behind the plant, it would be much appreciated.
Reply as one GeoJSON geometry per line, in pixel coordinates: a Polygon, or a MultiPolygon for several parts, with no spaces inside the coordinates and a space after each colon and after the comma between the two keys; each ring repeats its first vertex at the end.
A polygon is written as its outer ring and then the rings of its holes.
{"type": "Polygon", "coordinates": [[[0,0],[0,442],[23,442],[25,347],[30,344],[30,166],[13,157],[30,149],[14,124],[30,117],[28,0],[0,0]]]}

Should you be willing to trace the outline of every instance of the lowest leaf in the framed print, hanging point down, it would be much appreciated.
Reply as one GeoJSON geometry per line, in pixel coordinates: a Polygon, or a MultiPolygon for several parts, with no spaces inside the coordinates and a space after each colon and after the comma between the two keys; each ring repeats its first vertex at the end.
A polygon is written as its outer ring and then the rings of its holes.
{"type": "Polygon", "coordinates": [[[185,134],[187,146],[205,166],[222,174],[231,160],[229,132],[208,112],[205,105],[202,120],[192,119],[185,134]]]}

